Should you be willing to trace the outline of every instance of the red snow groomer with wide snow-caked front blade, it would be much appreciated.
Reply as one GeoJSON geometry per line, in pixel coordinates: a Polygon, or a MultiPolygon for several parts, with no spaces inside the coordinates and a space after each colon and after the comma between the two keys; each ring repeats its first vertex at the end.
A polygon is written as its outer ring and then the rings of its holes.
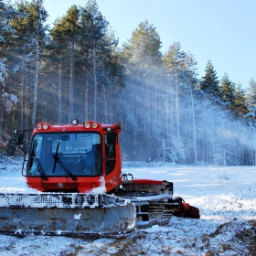
{"type": "Polygon", "coordinates": [[[0,195],[0,232],[68,236],[127,233],[163,225],[172,215],[199,218],[173,197],[173,183],[122,174],[120,123],[37,123],[22,174],[31,194],[0,195]]]}

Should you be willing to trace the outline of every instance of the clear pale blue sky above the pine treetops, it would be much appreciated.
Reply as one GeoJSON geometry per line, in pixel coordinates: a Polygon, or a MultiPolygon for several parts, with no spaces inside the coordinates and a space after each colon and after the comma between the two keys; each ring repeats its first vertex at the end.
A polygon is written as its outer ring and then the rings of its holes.
{"type": "MultiPolygon", "coordinates": [[[[45,0],[48,23],[66,14],[71,5],[87,0],[45,0]]],[[[176,41],[197,60],[198,77],[205,75],[208,59],[219,79],[229,79],[244,88],[256,79],[255,0],[97,0],[120,46],[144,20],[156,28],[165,51],[176,41]]]]}

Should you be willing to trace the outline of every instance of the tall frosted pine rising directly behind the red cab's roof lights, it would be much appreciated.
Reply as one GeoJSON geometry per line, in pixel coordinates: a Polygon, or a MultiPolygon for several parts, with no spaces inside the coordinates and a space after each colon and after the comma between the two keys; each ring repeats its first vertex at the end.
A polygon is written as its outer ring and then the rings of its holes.
{"type": "MultiPolygon", "coordinates": [[[[88,1],[80,8],[80,54],[83,66],[87,71],[87,80],[93,84],[93,119],[97,119],[98,94],[102,91],[105,105],[104,116],[107,116],[105,85],[110,85],[110,64],[112,52],[118,41],[108,33],[109,22],[101,15],[95,0],[88,1]],[[101,90],[100,90],[101,89],[101,90]]],[[[88,90],[88,89],[87,89],[88,90]]],[[[89,101],[88,97],[87,100],[89,101]]],[[[105,121],[107,121],[105,119],[105,121]]]]}

